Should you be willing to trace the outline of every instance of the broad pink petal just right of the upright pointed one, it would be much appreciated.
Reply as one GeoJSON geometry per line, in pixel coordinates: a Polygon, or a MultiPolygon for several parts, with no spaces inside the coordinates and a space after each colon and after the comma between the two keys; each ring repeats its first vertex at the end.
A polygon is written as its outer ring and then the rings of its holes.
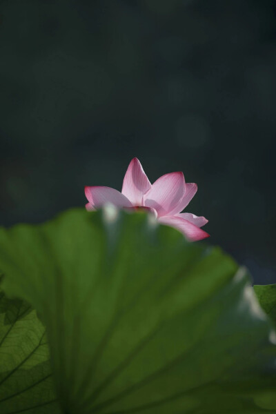
{"type": "MultiPolygon", "coordinates": [[[[183,172],[162,175],[144,195],[144,205],[157,210],[158,216],[170,214],[185,193],[183,172]]],[[[180,211],[180,210],[179,210],[180,211]]]]}

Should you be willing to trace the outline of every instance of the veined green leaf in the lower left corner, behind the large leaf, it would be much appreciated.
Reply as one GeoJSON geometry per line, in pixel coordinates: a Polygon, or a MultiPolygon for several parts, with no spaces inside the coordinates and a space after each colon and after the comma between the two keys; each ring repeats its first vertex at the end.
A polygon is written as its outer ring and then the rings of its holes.
{"type": "Polygon", "coordinates": [[[60,413],[51,373],[36,312],[0,291],[0,413],[60,413]]]}

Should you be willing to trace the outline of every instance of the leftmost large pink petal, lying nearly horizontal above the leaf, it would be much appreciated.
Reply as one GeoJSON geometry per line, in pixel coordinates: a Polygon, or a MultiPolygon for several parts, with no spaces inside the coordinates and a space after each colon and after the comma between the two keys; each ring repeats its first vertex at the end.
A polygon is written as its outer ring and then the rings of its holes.
{"type": "Polygon", "coordinates": [[[110,187],[85,187],[86,198],[90,205],[94,208],[99,208],[106,203],[112,203],[117,207],[132,207],[129,199],[122,195],[115,188],[110,187]]]}

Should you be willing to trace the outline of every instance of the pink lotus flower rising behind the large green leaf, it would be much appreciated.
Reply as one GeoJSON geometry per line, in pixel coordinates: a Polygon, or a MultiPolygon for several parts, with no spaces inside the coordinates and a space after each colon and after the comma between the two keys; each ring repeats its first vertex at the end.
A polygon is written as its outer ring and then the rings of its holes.
{"type": "Polygon", "coordinates": [[[183,172],[170,172],[150,184],[139,159],[133,158],[124,177],[121,193],[110,187],[85,187],[87,210],[112,203],[126,210],[143,209],[155,215],[161,224],[177,228],[190,241],[209,237],[201,229],[205,217],[181,213],[197,193],[197,184],[185,183],[183,172]]]}

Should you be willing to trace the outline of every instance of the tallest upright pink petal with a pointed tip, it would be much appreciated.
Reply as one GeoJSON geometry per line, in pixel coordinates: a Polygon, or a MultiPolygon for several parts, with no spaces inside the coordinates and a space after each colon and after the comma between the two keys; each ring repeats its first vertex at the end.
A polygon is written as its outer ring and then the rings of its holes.
{"type": "Polygon", "coordinates": [[[150,189],[151,184],[146,176],[139,159],[130,161],[124,177],[121,193],[132,202],[133,206],[141,206],[143,195],[150,189]]]}

